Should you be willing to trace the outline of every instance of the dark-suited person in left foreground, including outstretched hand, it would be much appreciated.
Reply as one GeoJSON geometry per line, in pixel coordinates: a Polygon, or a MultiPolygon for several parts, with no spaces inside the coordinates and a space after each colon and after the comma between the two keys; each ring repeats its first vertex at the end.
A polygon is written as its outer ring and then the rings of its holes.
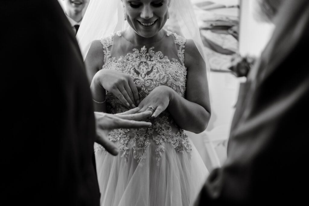
{"type": "MultiPolygon", "coordinates": [[[[83,57],[58,1],[5,0],[0,23],[1,205],[99,205],[93,144],[116,154],[102,137],[123,116],[97,113],[98,141],[83,57]]],[[[151,126],[134,115],[118,126],[151,126]]]]}

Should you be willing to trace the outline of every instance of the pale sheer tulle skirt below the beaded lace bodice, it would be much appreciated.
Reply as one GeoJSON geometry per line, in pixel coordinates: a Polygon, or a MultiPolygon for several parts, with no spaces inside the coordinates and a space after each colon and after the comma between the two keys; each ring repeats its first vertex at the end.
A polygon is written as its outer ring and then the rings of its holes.
{"type": "MultiPolygon", "coordinates": [[[[189,140],[190,141],[190,140],[189,140]]],[[[102,206],[189,206],[193,205],[206,177],[205,167],[192,142],[192,151],[179,153],[165,142],[157,164],[151,141],[143,159],[134,159],[133,149],[125,158],[105,151],[95,153],[102,206]]],[[[117,144],[117,142],[116,142],[117,144]]],[[[129,147],[129,145],[128,145],[129,147]]]]}

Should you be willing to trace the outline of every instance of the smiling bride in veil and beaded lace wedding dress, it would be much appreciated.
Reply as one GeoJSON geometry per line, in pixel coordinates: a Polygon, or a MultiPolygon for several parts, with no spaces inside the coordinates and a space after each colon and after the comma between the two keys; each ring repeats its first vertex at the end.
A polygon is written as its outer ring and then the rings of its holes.
{"type": "Polygon", "coordinates": [[[189,0],[90,1],[77,38],[95,110],[152,114],[150,128],[110,132],[120,155],[95,146],[101,205],[193,204],[208,171],[184,129],[200,133],[210,119],[198,32],[189,0]],[[163,29],[167,19],[189,38],[163,29]]]}

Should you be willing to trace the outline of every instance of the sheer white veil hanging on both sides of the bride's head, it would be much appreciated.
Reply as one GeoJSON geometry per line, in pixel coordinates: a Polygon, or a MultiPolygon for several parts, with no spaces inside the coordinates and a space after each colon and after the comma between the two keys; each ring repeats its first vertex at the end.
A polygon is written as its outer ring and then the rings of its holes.
{"type": "MultiPolygon", "coordinates": [[[[165,28],[173,29],[172,32],[194,41],[205,61],[209,80],[210,65],[203,52],[203,43],[191,1],[170,0],[169,13],[170,18],[165,28]]],[[[86,58],[93,40],[107,37],[128,26],[129,24],[124,20],[121,0],[91,0],[76,36],[83,58],[86,58]]]]}

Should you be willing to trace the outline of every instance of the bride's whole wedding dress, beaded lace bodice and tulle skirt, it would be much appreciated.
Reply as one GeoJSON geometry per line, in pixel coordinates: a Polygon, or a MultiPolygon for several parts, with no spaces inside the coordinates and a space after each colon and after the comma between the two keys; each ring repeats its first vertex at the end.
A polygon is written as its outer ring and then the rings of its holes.
{"type": "MultiPolygon", "coordinates": [[[[166,85],[184,97],[187,69],[184,66],[186,39],[166,31],[159,42],[134,45],[121,32],[101,39],[102,69],[130,74],[142,87],[140,99],[151,90],[166,85]]],[[[107,112],[127,108],[107,93],[107,112]]],[[[208,171],[197,149],[168,110],[152,122],[151,128],[115,129],[108,138],[119,145],[112,156],[95,146],[97,175],[104,206],[188,206],[192,205],[208,171]]]]}

